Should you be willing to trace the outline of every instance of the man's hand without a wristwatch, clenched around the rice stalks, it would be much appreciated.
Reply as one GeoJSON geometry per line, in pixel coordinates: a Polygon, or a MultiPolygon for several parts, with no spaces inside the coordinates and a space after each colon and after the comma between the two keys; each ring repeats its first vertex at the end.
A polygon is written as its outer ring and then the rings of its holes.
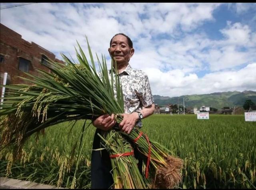
{"type": "Polygon", "coordinates": [[[114,120],[114,114],[112,114],[111,116],[108,114],[105,114],[95,119],[92,122],[92,124],[94,125],[94,127],[98,129],[102,129],[103,131],[108,131],[116,124],[116,121],[114,120]]]}

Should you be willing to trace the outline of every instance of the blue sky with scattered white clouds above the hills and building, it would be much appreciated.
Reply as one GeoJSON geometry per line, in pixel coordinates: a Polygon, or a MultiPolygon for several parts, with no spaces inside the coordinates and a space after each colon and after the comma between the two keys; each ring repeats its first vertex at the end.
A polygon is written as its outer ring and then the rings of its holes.
{"type": "Polygon", "coordinates": [[[148,74],[154,95],[256,90],[255,3],[36,3],[0,16],[58,59],[60,52],[75,59],[76,40],[86,51],[87,35],[110,63],[110,39],[127,34],[130,65],[148,74]]]}

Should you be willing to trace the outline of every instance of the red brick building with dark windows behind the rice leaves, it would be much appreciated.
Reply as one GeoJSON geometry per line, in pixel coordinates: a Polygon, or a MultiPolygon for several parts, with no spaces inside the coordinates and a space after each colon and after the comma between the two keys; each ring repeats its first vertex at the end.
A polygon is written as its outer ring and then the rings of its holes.
{"type": "MultiPolygon", "coordinates": [[[[3,84],[4,72],[8,73],[7,84],[21,84],[28,82],[17,76],[28,77],[24,72],[37,75],[36,69],[47,72],[50,70],[44,65],[48,64],[47,57],[59,63],[63,61],[36,43],[22,39],[22,36],[3,24],[0,24],[0,82],[3,84]]],[[[2,88],[1,88],[2,94],[2,88]]]]}

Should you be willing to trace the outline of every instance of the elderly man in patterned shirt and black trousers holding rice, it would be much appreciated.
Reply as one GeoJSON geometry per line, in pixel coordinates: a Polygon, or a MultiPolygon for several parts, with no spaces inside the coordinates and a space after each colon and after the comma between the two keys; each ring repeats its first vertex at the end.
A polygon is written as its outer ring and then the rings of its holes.
{"type": "MultiPolygon", "coordinates": [[[[116,61],[118,74],[120,76],[123,96],[124,112],[123,120],[119,124],[121,131],[130,134],[135,125],[142,127],[141,120],[154,113],[154,101],[148,76],[140,70],[132,69],[129,65],[130,58],[134,55],[131,39],[118,33],[110,40],[108,49],[112,59],[116,61]]],[[[110,74],[110,72],[109,72],[110,74]]],[[[94,135],[93,149],[100,148],[100,137],[97,133],[101,130],[107,131],[116,124],[114,114],[103,115],[93,121],[97,128],[94,135]]],[[[142,172],[142,159],[138,152],[134,156],[139,160],[139,169],[142,172]]],[[[106,150],[92,151],[91,158],[91,188],[110,188],[113,184],[112,170],[109,154],[106,150]]]]}

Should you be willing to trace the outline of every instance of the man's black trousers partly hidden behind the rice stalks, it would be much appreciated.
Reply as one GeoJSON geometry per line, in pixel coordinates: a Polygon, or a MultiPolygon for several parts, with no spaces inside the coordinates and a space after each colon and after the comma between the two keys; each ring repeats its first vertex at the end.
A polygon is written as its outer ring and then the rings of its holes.
{"type": "MultiPolygon", "coordinates": [[[[100,137],[97,133],[100,133],[100,129],[96,129],[94,134],[94,140],[92,149],[99,149],[100,147],[100,137]]],[[[100,133],[101,134],[101,133],[100,133]]],[[[138,159],[138,168],[142,174],[142,155],[137,150],[134,149],[134,157],[138,159]]],[[[101,151],[92,151],[91,158],[91,188],[92,189],[108,189],[114,184],[112,174],[111,161],[108,152],[104,149],[101,151]]]]}

